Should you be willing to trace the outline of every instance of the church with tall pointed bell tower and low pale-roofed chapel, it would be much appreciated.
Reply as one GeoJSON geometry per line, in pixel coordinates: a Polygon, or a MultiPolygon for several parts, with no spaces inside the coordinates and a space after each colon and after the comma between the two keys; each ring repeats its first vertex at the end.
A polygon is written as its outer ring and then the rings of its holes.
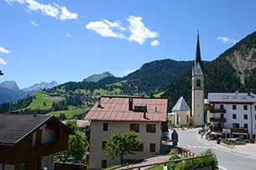
{"type": "Polygon", "coordinates": [[[191,109],[181,96],[169,113],[170,126],[202,126],[204,125],[204,75],[201,62],[199,33],[197,32],[196,58],[192,65],[191,109]]]}

